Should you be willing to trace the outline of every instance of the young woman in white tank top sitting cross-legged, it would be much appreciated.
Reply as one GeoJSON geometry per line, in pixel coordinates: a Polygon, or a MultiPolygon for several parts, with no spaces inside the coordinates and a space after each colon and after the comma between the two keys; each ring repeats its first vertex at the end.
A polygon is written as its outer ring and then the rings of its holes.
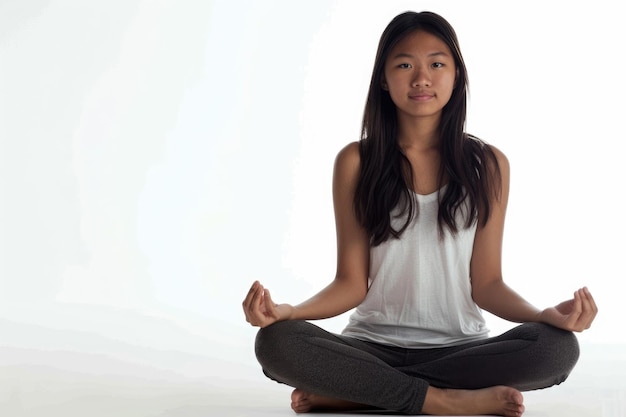
{"type": "Polygon", "coordinates": [[[573,331],[597,307],[586,288],[539,310],[502,279],[509,192],[504,154],[464,132],[467,75],[442,17],[406,12],[380,39],[362,139],[335,163],[335,279],[275,304],[259,282],[243,302],[261,327],[265,374],[296,389],[298,413],[378,408],[520,416],[520,391],[563,382],[573,331]],[[355,308],[342,334],[307,320],[355,308]],[[489,337],[481,309],[518,327],[489,337]]]}

